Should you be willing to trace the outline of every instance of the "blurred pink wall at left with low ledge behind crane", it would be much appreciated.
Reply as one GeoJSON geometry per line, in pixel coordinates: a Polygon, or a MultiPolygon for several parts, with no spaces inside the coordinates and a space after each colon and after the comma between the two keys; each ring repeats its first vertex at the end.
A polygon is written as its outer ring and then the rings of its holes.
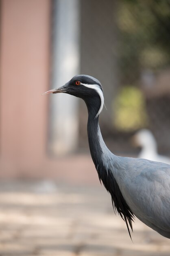
{"type": "Polygon", "coordinates": [[[0,177],[98,180],[89,156],[46,153],[50,0],[2,0],[0,26],[0,177]]]}

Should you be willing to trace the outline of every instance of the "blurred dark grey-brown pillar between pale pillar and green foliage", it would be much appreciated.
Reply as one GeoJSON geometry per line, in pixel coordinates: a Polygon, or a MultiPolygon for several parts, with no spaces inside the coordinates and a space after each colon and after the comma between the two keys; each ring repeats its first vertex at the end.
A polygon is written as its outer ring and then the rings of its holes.
{"type": "MultiPolygon", "coordinates": [[[[81,72],[96,77],[103,85],[107,108],[100,115],[103,135],[113,129],[110,124],[113,119],[112,103],[119,83],[115,18],[117,4],[116,0],[81,1],[81,72]]],[[[86,108],[84,103],[81,108],[86,108]]],[[[82,134],[86,134],[85,122],[84,119],[81,121],[82,134]]]]}

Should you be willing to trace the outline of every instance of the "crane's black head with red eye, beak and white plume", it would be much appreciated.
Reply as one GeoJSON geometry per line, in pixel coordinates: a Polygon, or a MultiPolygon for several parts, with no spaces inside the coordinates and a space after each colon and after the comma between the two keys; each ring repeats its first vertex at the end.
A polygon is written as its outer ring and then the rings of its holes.
{"type": "Polygon", "coordinates": [[[55,94],[61,92],[71,94],[83,99],[87,105],[88,110],[91,110],[91,108],[95,108],[95,110],[97,110],[96,117],[98,117],[102,111],[104,105],[102,85],[96,78],[92,76],[74,76],[68,83],[65,83],[65,85],[44,92],[44,94],[55,94]]]}

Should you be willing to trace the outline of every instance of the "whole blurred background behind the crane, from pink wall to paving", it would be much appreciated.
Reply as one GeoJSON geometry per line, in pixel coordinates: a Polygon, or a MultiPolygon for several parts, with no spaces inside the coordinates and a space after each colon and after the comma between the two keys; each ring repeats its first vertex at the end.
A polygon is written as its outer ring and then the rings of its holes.
{"type": "Polygon", "coordinates": [[[0,255],[169,255],[168,239],[136,221],[131,243],[114,216],[85,103],[41,95],[76,74],[103,85],[113,153],[137,157],[145,128],[169,158],[170,1],[0,0],[0,255]]]}

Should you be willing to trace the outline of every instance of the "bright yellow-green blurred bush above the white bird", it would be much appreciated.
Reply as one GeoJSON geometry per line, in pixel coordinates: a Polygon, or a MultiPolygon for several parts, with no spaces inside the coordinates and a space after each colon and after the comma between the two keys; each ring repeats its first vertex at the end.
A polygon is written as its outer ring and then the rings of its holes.
{"type": "Polygon", "coordinates": [[[147,124],[145,101],[142,92],[134,86],[120,90],[113,103],[114,126],[121,131],[133,131],[147,124]]]}

